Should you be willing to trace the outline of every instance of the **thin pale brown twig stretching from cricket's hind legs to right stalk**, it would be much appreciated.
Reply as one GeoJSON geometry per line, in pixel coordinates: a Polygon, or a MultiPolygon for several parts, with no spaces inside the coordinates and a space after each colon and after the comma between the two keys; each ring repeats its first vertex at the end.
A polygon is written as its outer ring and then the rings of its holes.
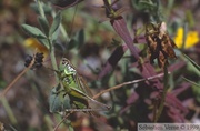
{"type": "Polygon", "coordinates": [[[156,78],[160,78],[160,77],[162,77],[162,75],[163,75],[163,73],[160,73],[160,74],[157,74],[157,75],[153,75],[153,77],[149,77],[149,78],[147,78],[147,79],[139,79],[139,80],[133,80],[133,81],[123,82],[123,83],[121,83],[121,84],[118,84],[118,85],[114,85],[114,87],[112,87],[112,88],[109,88],[109,89],[107,89],[107,90],[101,91],[100,93],[96,94],[96,95],[93,97],[93,99],[97,99],[97,98],[99,98],[101,94],[103,94],[103,93],[106,93],[106,92],[110,92],[110,91],[116,90],[116,89],[119,89],[119,88],[121,88],[121,87],[123,87],[123,85],[133,84],[133,83],[138,83],[138,82],[142,82],[142,81],[149,81],[149,80],[152,80],[152,79],[156,79],[156,78]]]}

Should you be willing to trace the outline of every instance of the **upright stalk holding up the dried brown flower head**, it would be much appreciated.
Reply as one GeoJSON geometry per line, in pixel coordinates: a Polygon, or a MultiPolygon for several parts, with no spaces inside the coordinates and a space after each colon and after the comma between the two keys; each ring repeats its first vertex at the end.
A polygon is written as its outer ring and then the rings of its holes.
{"type": "Polygon", "coordinates": [[[163,89],[163,92],[162,92],[162,97],[161,97],[161,101],[160,101],[160,107],[158,109],[158,113],[156,114],[156,119],[154,119],[154,123],[159,120],[161,113],[162,113],[162,110],[163,110],[163,107],[164,107],[164,101],[166,101],[166,94],[167,94],[167,91],[168,91],[168,66],[167,63],[164,64],[164,89],[163,89]]]}

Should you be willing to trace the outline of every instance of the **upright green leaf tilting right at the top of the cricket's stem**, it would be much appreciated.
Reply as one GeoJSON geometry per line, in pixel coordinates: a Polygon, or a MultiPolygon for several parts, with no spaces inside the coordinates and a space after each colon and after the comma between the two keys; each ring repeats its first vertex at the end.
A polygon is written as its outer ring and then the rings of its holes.
{"type": "Polygon", "coordinates": [[[60,22],[61,22],[61,19],[62,19],[61,12],[59,11],[59,12],[57,13],[57,16],[54,17],[53,22],[52,22],[52,24],[51,24],[51,29],[50,29],[50,32],[49,32],[49,36],[50,36],[50,37],[51,37],[51,36],[57,31],[57,29],[59,28],[60,22]]]}

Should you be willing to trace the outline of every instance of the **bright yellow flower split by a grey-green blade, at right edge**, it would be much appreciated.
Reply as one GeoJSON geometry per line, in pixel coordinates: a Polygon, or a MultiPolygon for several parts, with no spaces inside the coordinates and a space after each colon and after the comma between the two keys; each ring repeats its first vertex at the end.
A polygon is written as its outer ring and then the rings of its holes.
{"type": "MultiPolygon", "coordinates": [[[[199,33],[197,31],[188,31],[186,37],[186,43],[183,48],[191,48],[199,42],[199,33]]],[[[182,48],[183,44],[183,28],[180,27],[177,31],[177,37],[174,38],[174,43],[178,48],[182,48]]]]}

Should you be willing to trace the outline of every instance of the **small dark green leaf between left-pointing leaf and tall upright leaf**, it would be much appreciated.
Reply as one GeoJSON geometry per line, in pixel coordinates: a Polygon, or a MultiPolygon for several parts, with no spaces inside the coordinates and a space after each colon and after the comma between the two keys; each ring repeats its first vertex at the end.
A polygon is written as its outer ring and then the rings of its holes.
{"type": "Polygon", "coordinates": [[[46,36],[48,36],[49,34],[49,23],[48,23],[47,19],[44,19],[42,17],[38,17],[38,22],[40,23],[42,31],[46,33],[46,36]]]}

